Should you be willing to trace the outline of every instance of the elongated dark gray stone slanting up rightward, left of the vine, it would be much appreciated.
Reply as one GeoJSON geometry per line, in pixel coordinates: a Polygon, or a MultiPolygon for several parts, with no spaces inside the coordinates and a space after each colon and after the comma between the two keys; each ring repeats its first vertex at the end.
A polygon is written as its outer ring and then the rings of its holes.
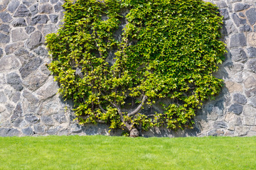
{"type": "Polygon", "coordinates": [[[35,71],[42,63],[42,60],[39,57],[34,58],[33,60],[29,61],[28,63],[24,64],[20,69],[19,72],[21,73],[21,77],[24,79],[28,77],[33,71],[35,71]]]}

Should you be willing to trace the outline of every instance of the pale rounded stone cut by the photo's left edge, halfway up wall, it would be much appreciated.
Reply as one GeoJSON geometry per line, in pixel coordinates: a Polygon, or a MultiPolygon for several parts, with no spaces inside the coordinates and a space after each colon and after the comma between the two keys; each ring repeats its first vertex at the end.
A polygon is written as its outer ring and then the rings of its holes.
{"type": "Polygon", "coordinates": [[[6,55],[0,59],[0,72],[17,69],[19,65],[19,62],[14,55],[6,55]]]}

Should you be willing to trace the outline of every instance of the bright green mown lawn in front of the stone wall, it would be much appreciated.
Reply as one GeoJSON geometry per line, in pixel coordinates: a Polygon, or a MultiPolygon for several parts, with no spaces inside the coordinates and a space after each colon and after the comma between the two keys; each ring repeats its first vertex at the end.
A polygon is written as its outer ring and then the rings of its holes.
{"type": "Polygon", "coordinates": [[[0,137],[0,169],[256,169],[256,137],[0,137]]]}

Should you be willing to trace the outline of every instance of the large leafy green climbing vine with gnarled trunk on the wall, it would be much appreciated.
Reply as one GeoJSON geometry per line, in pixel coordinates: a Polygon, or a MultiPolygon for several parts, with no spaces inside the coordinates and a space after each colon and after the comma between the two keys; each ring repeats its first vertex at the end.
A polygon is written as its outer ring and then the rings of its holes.
{"type": "Polygon", "coordinates": [[[48,65],[81,124],[127,135],[193,128],[196,110],[220,92],[222,17],[201,0],[78,0],[47,35],[48,65]]]}

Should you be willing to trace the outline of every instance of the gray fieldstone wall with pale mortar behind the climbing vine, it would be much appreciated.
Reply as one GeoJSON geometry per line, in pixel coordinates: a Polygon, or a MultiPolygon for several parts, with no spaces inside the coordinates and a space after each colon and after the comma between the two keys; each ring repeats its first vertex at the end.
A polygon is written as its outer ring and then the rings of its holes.
{"type": "MultiPolygon", "coordinates": [[[[228,54],[216,73],[225,80],[223,91],[198,111],[193,130],[153,128],[143,136],[256,135],[256,0],[210,2],[224,16],[228,54]]],[[[62,4],[0,0],[0,136],[109,135],[107,125],[73,121],[72,102],[56,94],[58,84],[46,68],[44,37],[62,25],[62,4]]]]}

